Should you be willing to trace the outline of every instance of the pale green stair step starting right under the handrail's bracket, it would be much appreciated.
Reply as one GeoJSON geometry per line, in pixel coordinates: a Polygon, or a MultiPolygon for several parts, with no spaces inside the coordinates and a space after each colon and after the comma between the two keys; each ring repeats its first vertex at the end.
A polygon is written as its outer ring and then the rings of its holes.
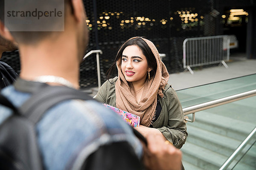
{"type": "Polygon", "coordinates": [[[196,113],[195,123],[193,123],[193,126],[240,141],[243,141],[250,134],[253,128],[255,128],[255,124],[217,115],[208,111],[196,113]]]}

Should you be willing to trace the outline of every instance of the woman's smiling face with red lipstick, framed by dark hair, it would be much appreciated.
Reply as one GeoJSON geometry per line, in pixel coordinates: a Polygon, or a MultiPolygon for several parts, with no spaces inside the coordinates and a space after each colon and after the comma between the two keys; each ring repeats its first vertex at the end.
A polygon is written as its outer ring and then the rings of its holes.
{"type": "Polygon", "coordinates": [[[145,82],[148,74],[148,62],[137,45],[130,45],[124,49],[121,69],[126,81],[145,82]]]}

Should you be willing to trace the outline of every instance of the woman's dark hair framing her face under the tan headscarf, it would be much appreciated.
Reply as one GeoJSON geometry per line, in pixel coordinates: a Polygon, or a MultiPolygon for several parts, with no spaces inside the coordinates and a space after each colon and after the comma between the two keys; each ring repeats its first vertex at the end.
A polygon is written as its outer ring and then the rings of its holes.
{"type": "Polygon", "coordinates": [[[152,70],[149,72],[150,77],[154,77],[154,75],[156,74],[156,71],[157,71],[157,60],[156,60],[153,52],[151,51],[151,48],[149,48],[148,44],[142,38],[137,37],[137,38],[128,40],[123,45],[121,45],[118,53],[116,54],[116,58],[115,58],[114,62],[112,63],[112,65],[108,69],[108,71],[106,72],[107,79],[110,79],[111,76],[113,76],[113,74],[116,74],[116,71],[117,71],[116,62],[119,59],[122,62],[122,53],[125,50],[125,48],[130,45],[137,45],[141,49],[143,55],[147,59],[148,67],[152,68],[152,70]]]}

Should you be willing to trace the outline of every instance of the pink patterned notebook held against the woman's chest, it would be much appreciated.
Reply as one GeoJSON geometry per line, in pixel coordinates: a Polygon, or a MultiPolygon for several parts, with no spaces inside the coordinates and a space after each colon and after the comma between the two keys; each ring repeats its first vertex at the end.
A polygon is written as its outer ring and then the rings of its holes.
{"type": "Polygon", "coordinates": [[[119,108],[115,108],[115,107],[113,107],[111,105],[107,105],[107,104],[103,104],[103,105],[105,105],[107,108],[110,108],[114,112],[116,112],[119,115],[121,115],[122,118],[125,119],[125,121],[129,123],[129,125],[131,125],[131,123],[133,123],[134,127],[139,127],[140,126],[140,116],[137,116],[135,114],[129,113],[127,111],[123,111],[123,110],[121,110],[119,108]]]}

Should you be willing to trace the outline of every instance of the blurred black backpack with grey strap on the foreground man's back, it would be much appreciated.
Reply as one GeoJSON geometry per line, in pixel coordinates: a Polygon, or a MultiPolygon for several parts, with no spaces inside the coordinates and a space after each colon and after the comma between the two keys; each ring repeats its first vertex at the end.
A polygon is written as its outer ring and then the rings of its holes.
{"type": "Polygon", "coordinates": [[[0,105],[13,111],[12,116],[0,124],[0,169],[44,170],[37,146],[35,124],[45,111],[67,99],[92,98],[72,88],[45,84],[20,108],[16,108],[0,94],[0,105]]]}

